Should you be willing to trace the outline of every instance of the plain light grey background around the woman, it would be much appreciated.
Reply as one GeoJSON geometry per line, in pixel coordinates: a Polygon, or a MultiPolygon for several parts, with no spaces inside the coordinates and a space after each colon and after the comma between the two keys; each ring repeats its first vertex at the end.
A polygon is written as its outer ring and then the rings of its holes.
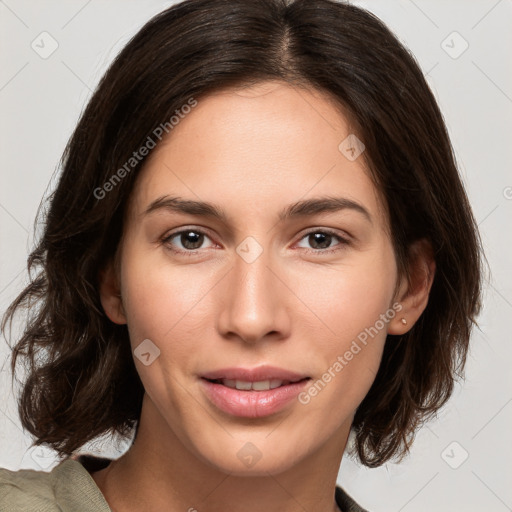
{"type": "MultiPolygon", "coordinates": [[[[0,313],[27,281],[37,207],[55,183],[83,106],[116,53],[171,3],[0,0],[0,313]],[[52,44],[57,49],[45,55],[52,44]]],[[[512,459],[512,1],[354,3],[385,21],[424,70],[444,113],[492,273],[466,380],[439,418],[418,432],[401,464],[370,470],[345,457],[338,480],[373,512],[512,510],[506,462],[512,459]]],[[[0,466],[49,470],[52,452],[30,448],[21,429],[7,356],[2,339],[0,466]]],[[[90,445],[107,456],[125,447],[90,445]]]]}

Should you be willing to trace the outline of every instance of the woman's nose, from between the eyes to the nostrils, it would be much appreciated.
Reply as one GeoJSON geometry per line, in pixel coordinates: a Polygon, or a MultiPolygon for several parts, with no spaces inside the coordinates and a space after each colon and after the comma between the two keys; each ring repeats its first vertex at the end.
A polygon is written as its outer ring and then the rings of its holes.
{"type": "Polygon", "coordinates": [[[292,293],[281,267],[272,265],[271,260],[269,251],[252,262],[235,255],[234,266],[223,280],[223,297],[219,298],[217,327],[224,338],[254,344],[289,336],[292,293]]]}

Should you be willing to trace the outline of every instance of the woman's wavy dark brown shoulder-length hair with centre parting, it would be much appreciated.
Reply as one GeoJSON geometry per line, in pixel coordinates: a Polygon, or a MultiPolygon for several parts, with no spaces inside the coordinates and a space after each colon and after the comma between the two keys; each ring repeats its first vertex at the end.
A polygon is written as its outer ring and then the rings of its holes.
{"type": "Polygon", "coordinates": [[[346,3],[186,0],[146,23],[100,81],[64,151],[28,258],[30,283],[3,318],[5,329],[17,311],[28,315],[11,366],[14,375],[21,357],[28,371],[19,413],[35,444],[69,455],[103,433],[129,435],[141,411],[127,326],[103,312],[98,274],[119,246],[145,159],[108,193],[95,191],[190,98],[268,79],[324,91],[355,120],[387,205],[399,274],[408,275],[412,242],[433,248],[428,305],[409,332],[388,336],[356,411],[360,460],[378,466],[403,456],[450,397],[480,311],[481,243],[414,58],[376,16],[346,3]]]}

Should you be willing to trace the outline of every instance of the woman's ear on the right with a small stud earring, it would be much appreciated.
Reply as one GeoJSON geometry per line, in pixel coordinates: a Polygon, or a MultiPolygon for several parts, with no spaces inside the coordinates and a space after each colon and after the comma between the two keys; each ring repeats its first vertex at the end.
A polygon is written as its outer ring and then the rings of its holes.
{"type": "Polygon", "coordinates": [[[389,323],[388,334],[400,335],[409,331],[428,304],[436,271],[432,246],[427,239],[422,238],[410,246],[409,255],[410,277],[409,280],[406,276],[402,278],[397,294],[402,309],[389,323]]]}

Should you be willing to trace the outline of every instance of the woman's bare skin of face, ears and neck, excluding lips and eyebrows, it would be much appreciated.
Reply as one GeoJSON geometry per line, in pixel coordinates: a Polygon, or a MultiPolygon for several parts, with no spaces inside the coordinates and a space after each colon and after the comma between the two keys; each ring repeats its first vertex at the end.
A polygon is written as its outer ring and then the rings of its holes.
{"type": "Polygon", "coordinates": [[[137,440],[92,474],[116,512],[338,510],[355,410],[386,334],[406,332],[424,310],[435,268],[420,244],[411,281],[397,281],[364,153],[350,161],[338,149],[350,133],[319,91],[269,81],[201,99],[153,150],[131,197],[119,275],[110,265],[101,278],[105,312],[128,324],[132,349],[150,339],[160,350],[149,366],[134,358],[146,391],[137,440]],[[227,221],[144,215],[164,195],[215,203],[227,221]],[[356,201],[371,222],[352,209],[279,222],[289,204],[325,196],[356,201]],[[205,232],[195,255],[172,251],[191,252],[194,239],[162,241],[179,228],[205,232]],[[308,236],[325,229],[349,243],[308,236]],[[236,252],[248,236],[262,249],[251,263],[236,252]],[[271,364],[316,381],[397,302],[401,311],[308,404],[238,418],[201,389],[199,374],[231,366],[271,364]],[[248,442],[261,454],[252,467],[237,457],[248,442]]]}

